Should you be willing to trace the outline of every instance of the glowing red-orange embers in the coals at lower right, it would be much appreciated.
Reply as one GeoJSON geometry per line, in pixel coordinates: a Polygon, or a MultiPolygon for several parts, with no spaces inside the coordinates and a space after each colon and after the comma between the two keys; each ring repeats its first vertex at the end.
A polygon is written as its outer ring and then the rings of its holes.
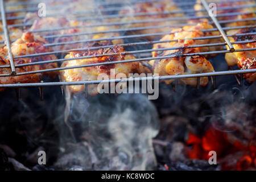
{"type": "Polygon", "coordinates": [[[227,134],[228,133],[214,129],[213,126],[210,126],[209,129],[205,131],[203,137],[189,133],[186,141],[186,154],[188,158],[208,160],[210,158],[210,155],[208,155],[209,152],[216,151],[218,164],[221,165],[222,170],[241,171],[255,167],[255,143],[249,142],[249,146],[245,146],[238,140],[234,143],[230,143],[227,139],[227,134]],[[232,157],[230,157],[230,154],[233,154],[232,157]],[[231,161],[236,162],[236,164],[230,164],[231,161]]]}

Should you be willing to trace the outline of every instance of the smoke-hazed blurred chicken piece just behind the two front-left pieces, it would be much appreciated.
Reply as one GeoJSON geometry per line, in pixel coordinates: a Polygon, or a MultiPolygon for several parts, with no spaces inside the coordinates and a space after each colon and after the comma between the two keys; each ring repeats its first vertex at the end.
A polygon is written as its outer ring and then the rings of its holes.
{"type": "MultiPolygon", "coordinates": [[[[74,42],[79,40],[88,40],[88,39],[105,39],[111,37],[120,36],[119,32],[110,32],[108,34],[91,34],[91,35],[71,35],[71,36],[63,36],[69,34],[76,34],[82,32],[101,32],[101,31],[108,31],[112,27],[100,26],[100,27],[85,27],[85,22],[79,22],[77,20],[68,20],[66,18],[42,18],[36,19],[29,29],[30,31],[33,30],[46,30],[46,29],[54,29],[54,28],[61,28],[61,27],[71,27],[71,28],[63,28],[62,30],[57,31],[40,31],[36,32],[36,35],[40,36],[51,36],[51,35],[60,35],[60,37],[55,38],[48,38],[49,43],[63,43],[63,42],[74,42]],[[72,28],[73,27],[73,28],[72,28]]],[[[122,44],[122,39],[115,39],[112,41],[113,44],[122,44]]],[[[84,43],[69,43],[63,44],[61,46],[53,46],[54,51],[61,51],[61,50],[68,50],[82,47],[84,43]]]]}

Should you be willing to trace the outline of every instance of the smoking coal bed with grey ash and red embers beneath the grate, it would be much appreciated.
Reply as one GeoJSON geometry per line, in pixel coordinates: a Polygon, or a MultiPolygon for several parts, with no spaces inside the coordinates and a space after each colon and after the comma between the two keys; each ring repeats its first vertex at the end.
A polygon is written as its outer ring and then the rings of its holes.
{"type": "MultiPolygon", "coordinates": [[[[126,47],[141,49],[152,45],[126,47]]],[[[229,70],[224,60],[210,59],[216,72],[229,70]]],[[[146,94],[70,96],[57,86],[6,89],[0,169],[255,170],[256,84],[240,84],[234,75],[216,76],[216,88],[160,83],[152,101],[146,94]]]]}

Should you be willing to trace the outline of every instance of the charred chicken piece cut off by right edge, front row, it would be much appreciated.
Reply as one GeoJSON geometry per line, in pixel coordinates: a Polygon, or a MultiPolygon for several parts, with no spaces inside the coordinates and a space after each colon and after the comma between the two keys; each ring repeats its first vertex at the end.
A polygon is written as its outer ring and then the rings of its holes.
{"type": "MultiPolygon", "coordinates": [[[[236,34],[245,34],[250,32],[256,32],[256,28],[245,28],[240,30],[230,30],[228,35],[236,34]]],[[[233,36],[229,37],[230,42],[239,42],[245,40],[256,40],[256,35],[247,35],[247,36],[233,36]]],[[[246,43],[246,44],[233,44],[235,49],[247,49],[255,48],[256,42],[246,43]]],[[[238,65],[240,69],[255,69],[256,68],[256,51],[242,51],[242,52],[233,52],[226,53],[225,55],[226,62],[229,67],[238,65]]],[[[246,73],[243,75],[248,82],[253,82],[256,80],[256,73],[246,73]]]]}

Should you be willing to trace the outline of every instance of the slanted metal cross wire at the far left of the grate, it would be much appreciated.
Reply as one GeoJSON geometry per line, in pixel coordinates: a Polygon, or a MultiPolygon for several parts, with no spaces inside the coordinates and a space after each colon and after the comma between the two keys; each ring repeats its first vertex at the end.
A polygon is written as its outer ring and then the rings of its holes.
{"type": "Polygon", "coordinates": [[[9,61],[11,65],[11,75],[15,75],[15,65],[14,65],[14,59],[13,59],[13,53],[11,53],[11,46],[10,46],[10,38],[9,38],[9,32],[7,28],[7,23],[6,23],[6,14],[5,14],[5,4],[3,0],[0,0],[0,9],[1,9],[1,16],[2,16],[2,23],[3,23],[3,32],[5,34],[5,41],[6,41],[6,46],[8,48],[8,56],[9,56],[9,61]]]}

